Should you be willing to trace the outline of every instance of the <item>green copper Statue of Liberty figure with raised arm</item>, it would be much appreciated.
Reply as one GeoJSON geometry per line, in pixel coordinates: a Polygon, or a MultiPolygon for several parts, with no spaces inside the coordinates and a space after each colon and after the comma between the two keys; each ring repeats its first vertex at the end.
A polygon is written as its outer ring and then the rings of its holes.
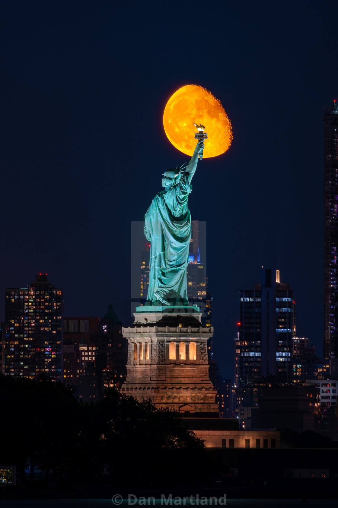
{"type": "Polygon", "coordinates": [[[151,242],[146,305],[189,305],[186,268],[189,263],[191,216],[187,207],[199,153],[198,141],[186,166],[165,171],[161,190],[144,216],[144,234],[151,242]]]}

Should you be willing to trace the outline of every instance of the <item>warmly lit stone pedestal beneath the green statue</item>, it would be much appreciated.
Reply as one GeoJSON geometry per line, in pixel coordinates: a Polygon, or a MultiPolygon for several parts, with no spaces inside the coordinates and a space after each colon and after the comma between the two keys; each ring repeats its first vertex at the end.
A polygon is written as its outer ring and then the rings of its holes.
{"type": "Polygon", "coordinates": [[[136,307],[128,339],[127,377],[121,392],[180,412],[218,413],[208,375],[207,340],[199,307],[136,307]]]}

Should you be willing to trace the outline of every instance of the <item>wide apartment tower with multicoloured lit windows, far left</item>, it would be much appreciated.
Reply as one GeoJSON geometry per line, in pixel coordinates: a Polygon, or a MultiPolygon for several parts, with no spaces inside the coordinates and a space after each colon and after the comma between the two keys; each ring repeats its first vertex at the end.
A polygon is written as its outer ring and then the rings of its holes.
{"type": "Polygon", "coordinates": [[[34,378],[46,374],[61,381],[63,290],[39,273],[28,288],[5,294],[5,374],[34,378]]]}

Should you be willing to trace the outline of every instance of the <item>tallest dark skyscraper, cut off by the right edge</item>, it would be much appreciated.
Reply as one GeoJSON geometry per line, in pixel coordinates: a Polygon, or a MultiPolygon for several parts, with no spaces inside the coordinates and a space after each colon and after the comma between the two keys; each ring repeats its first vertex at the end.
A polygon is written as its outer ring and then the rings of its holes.
{"type": "Polygon", "coordinates": [[[324,114],[324,358],[338,358],[338,103],[324,114]]]}

